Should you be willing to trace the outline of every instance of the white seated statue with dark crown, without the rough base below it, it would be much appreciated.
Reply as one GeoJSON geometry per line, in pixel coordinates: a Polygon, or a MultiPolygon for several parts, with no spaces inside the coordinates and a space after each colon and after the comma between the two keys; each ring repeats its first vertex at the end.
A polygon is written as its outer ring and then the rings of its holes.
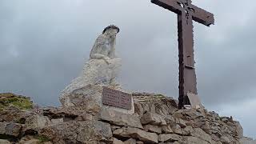
{"type": "Polygon", "coordinates": [[[98,36],[90,51],[90,60],[86,62],[82,73],[69,86],[62,90],[62,95],[69,94],[83,86],[104,84],[115,86],[115,78],[121,67],[121,59],[115,56],[115,39],[119,28],[107,26],[98,36]]]}

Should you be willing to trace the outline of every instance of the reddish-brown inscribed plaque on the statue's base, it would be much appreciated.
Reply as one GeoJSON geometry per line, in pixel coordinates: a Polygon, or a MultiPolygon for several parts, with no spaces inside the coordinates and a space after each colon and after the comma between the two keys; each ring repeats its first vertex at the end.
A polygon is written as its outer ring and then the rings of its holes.
{"type": "Polygon", "coordinates": [[[103,87],[102,103],[108,106],[115,106],[122,109],[131,109],[131,94],[119,90],[103,87]]]}

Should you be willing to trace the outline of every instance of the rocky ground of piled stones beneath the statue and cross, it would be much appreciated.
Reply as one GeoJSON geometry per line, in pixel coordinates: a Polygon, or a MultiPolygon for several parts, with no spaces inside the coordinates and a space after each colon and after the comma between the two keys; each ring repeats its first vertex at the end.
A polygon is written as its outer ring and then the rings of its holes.
{"type": "Polygon", "coordinates": [[[242,135],[232,117],[205,109],[178,110],[161,94],[134,93],[135,114],[94,106],[33,106],[30,98],[0,94],[0,144],[238,144],[242,135]]]}

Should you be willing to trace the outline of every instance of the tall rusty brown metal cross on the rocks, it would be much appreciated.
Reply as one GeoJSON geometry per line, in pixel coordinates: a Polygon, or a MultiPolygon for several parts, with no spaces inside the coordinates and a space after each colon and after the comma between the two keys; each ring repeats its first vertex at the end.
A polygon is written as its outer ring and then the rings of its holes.
{"type": "Polygon", "coordinates": [[[214,24],[214,14],[192,5],[191,0],[151,0],[151,2],[178,14],[178,107],[182,109],[184,105],[190,105],[189,95],[198,94],[194,69],[193,20],[210,26],[214,24]]]}

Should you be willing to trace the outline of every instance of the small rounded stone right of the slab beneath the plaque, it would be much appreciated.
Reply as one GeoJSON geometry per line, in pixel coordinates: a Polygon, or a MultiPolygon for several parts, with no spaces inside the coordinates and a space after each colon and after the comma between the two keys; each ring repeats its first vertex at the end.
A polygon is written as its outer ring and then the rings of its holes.
{"type": "Polygon", "coordinates": [[[143,114],[141,118],[141,122],[143,125],[151,124],[151,125],[166,125],[166,120],[159,114],[154,114],[147,112],[143,114]]]}

